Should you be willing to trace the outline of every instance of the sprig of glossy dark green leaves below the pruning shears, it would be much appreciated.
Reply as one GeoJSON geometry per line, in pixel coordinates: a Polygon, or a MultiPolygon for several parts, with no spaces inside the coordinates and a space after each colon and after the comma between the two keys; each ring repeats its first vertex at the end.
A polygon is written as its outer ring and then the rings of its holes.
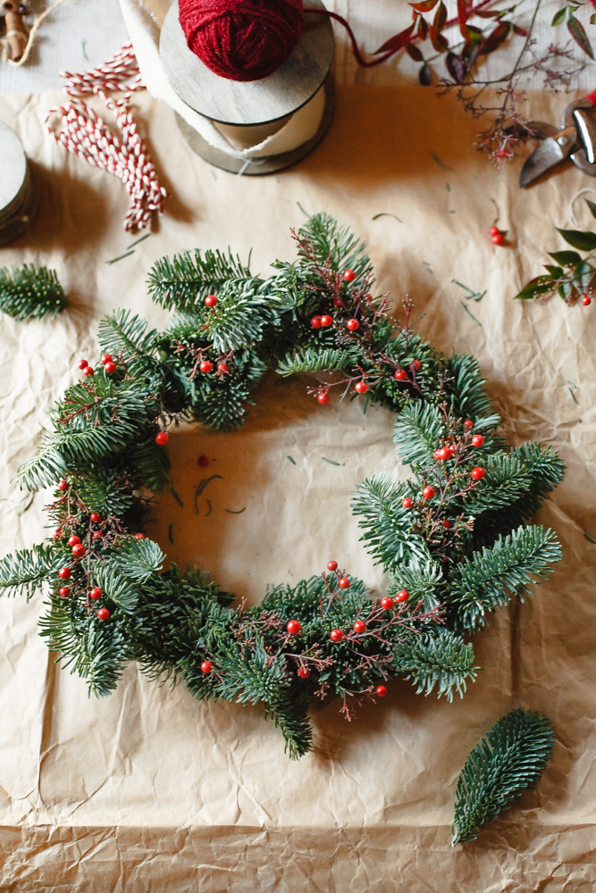
{"type": "MultiPolygon", "coordinates": [[[[596,204],[586,198],[586,204],[596,217],[596,204]]],[[[530,298],[540,300],[545,304],[557,294],[568,305],[581,301],[584,307],[592,304],[592,298],[596,296],[594,289],[594,277],[596,275],[596,233],[582,230],[559,230],[558,233],[565,239],[567,245],[576,248],[577,251],[549,252],[555,263],[545,263],[548,270],[541,276],[535,276],[524,288],[516,294],[519,300],[530,298]],[[583,256],[577,252],[583,252],[583,256]]]]}

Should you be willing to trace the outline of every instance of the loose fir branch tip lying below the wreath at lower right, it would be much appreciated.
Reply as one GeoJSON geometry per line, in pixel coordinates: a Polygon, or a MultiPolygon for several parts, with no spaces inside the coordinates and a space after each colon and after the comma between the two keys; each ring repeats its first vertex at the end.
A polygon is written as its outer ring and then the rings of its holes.
{"type": "Polygon", "coordinates": [[[549,720],[518,707],[501,716],[474,747],[457,779],[452,846],[476,839],[533,785],[550,760],[555,736],[549,720]]]}

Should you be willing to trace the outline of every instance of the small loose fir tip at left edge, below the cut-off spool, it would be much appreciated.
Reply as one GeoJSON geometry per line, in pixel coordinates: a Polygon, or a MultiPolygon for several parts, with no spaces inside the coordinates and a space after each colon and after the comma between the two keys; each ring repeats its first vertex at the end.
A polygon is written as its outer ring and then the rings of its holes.
{"type": "Polygon", "coordinates": [[[0,310],[17,321],[60,313],[68,301],[55,270],[24,263],[0,268],[0,310]]]}

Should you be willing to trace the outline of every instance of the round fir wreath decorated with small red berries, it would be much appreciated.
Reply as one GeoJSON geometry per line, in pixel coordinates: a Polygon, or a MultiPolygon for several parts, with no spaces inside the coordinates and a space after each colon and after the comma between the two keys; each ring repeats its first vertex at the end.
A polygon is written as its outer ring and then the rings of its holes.
{"type": "Polygon", "coordinates": [[[155,263],[149,290],[176,313],[164,332],[117,310],[99,325],[104,351],[51,410],[19,487],[52,487],[46,544],[0,562],[0,589],[48,593],[40,625],[97,695],[137,661],[199,699],[262,703],[291,757],[311,744],[312,697],[339,696],[349,718],[394,675],[449,699],[474,680],[466,640],[561,555],[551,530],[525,526],[562,479],[550,448],[506,447],[495,434],[477,363],[442,355],[374,296],[365,246],[319,214],[294,233],[295,263],[254,276],[206,251],[155,263]],[[167,430],[181,420],[242,424],[265,371],[314,373],[330,394],[397,413],[394,440],[412,476],[364,480],[352,508],[365,547],[390,574],[381,598],[335,561],[255,607],[195,569],[161,568],[142,531],[147,491],[169,486],[167,430]]]}

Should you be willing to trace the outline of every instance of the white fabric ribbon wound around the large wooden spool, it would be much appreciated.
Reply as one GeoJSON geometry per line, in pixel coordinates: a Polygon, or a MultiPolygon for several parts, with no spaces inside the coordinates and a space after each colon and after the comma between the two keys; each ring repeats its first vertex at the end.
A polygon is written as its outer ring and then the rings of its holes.
{"type": "Polygon", "coordinates": [[[315,136],[323,117],[324,90],[319,90],[316,96],[293,114],[290,121],[277,133],[255,146],[246,149],[234,148],[212,121],[208,121],[191,109],[170,85],[159,56],[159,28],[146,8],[136,0],[120,0],[120,5],[147,90],[151,96],[155,96],[155,99],[162,99],[172,106],[172,109],[179,113],[190,127],[197,130],[210,146],[220,149],[232,158],[248,160],[290,152],[315,136]]]}

